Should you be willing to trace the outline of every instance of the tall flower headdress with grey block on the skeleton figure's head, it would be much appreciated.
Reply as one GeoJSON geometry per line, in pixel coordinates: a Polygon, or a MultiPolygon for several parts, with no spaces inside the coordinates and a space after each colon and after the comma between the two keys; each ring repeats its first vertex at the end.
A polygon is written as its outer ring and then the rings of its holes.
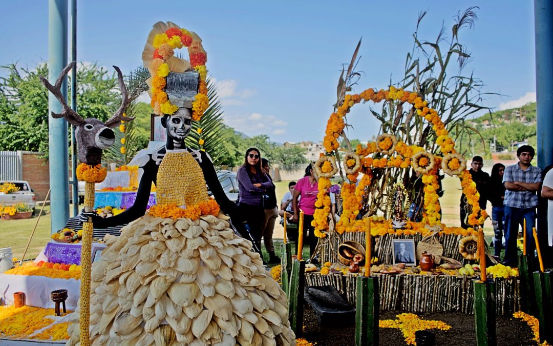
{"type": "Polygon", "coordinates": [[[179,107],[192,109],[192,120],[204,115],[207,97],[207,53],[201,38],[172,22],[158,22],[148,35],[142,52],[144,67],[152,78],[146,83],[157,115],[171,115],[179,107]],[[190,61],[177,58],[175,49],[188,48],[190,61]]]}

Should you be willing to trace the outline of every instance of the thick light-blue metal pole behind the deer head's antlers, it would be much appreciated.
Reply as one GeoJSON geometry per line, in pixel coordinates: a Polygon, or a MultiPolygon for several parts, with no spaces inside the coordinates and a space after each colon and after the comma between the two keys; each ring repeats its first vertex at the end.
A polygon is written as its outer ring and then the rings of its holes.
{"type": "MultiPolygon", "coordinates": [[[[48,2],[48,80],[54,84],[67,64],[67,0],[48,2]]],[[[67,81],[61,86],[67,98],[67,81]]],[[[60,113],[61,105],[54,95],[48,95],[48,142],[50,153],[51,233],[62,229],[69,219],[69,153],[67,122],[54,119],[51,112],[60,113]]]]}

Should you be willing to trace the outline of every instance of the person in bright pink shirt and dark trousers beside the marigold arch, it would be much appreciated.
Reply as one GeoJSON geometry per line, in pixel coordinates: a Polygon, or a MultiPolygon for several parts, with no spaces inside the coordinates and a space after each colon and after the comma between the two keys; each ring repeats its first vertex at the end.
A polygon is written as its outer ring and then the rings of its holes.
{"type": "Polygon", "coordinates": [[[315,214],[315,202],[317,202],[317,193],[319,193],[319,184],[315,172],[311,164],[305,169],[305,176],[298,180],[294,188],[294,196],[292,199],[292,207],[294,209],[294,221],[300,218],[300,210],[304,212],[304,229],[303,231],[305,243],[309,244],[309,254],[313,255],[317,246],[317,237],[315,236],[315,228],[311,225],[313,214],[315,214]],[[301,196],[299,202],[298,198],[301,196]],[[308,234],[309,233],[309,234],[308,234]]]}

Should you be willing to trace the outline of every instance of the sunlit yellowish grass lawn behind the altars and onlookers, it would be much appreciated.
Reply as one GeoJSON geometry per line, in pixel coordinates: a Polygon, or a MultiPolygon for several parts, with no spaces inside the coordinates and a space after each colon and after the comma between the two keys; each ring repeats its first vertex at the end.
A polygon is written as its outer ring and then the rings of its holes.
{"type": "MultiPolygon", "coordinates": [[[[284,194],[288,191],[288,181],[275,182],[276,186],[276,199],[280,206],[280,200],[284,194]]],[[[446,176],[443,181],[444,185],[444,197],[440,199],[442,206],[442,221],[448,226],[460,225],[459,220],[459,201],[461,198],[461,184],[457,178],[446,176]]],[[[71,210],[71,208],[70,208],[71,210]]],[[[491,206],[488,203],[488,214],[491,213],[491,206]]],[[[12,247],[14,257],[20,259],[25,245],[29,240],[29,236],[33,231],[33,227],[36,223],[37,216],[33,216],[32,219],[27,220],[9,220],[0,221],[0,234],[2,234],[2,240],[0,241],[0,247],[12,247]]],[[[493,237],[492,222],[486,221],[484,234],[486,238],[491,239],[493,237]]],[[[281,244],[283,239],[283,228],[280,224],[275,225],[273,239],[275,239],[275,245],[281,244]]],[[[50,206],[46,206],[44,213],[40,218],[38,226],[36,227],[33,240],[29,245],[27,252],[27,258],[36,257],[40,250],[45,246],[46,242],[50,240],[50,206]]],[[[280,251],[281,246],[275,246],[280,251]]],[[[265,249],[263,249],[265,251],[265,249]]],[[[277,252],[278,254],[278,252],[277,252]]],[[[266,256],[268,259],[268,256],[266,256]]],[[[304,258],[309,258],[309,250],[307,252],[304,249],[304,258]]]]}

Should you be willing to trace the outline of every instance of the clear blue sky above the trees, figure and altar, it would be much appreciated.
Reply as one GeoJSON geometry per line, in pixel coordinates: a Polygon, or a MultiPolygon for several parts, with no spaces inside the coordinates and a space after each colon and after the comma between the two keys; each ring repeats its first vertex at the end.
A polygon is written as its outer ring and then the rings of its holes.
{"type": "MultiPolygon", "coordinates": [[[[48,1],[2,4],[0,64],[48,59],[48,1]],[[32,4],[32,6],[30,6],[32,4]]],[[[434,40],[442,23],[451,39],[458,11],[479,6],[473,29],[460,34],[472,53],[465,73],[484,81],[483,105],[504,109],[535,100],[534,8],[531,1],[79,1],[79,61],[128,73],[152,25],[171,20],[200,35],[218,85],[225,121],[276,142],[322,140],[341,64],[363,37],[363,71],[354,91],[382,88],[403,74],[421,10],[419,38],[434,40]]],[[[358,106],[350,138],[378,132],[369,106],[358,106]]],[[[357,107],[356,107],[357,108],[357,107]]],[[[378,108],[377,108],[378,109],[378,108]]]]}

